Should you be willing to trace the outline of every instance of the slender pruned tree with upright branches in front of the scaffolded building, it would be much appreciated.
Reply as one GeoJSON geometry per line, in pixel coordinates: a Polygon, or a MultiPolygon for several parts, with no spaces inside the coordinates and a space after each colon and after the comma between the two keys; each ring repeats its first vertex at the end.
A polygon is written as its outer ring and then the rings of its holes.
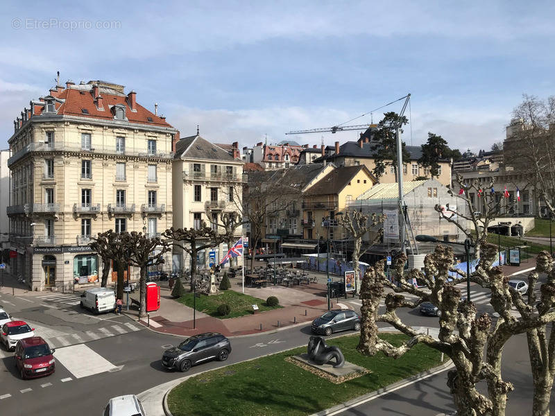
{"type": "Polygon", "coordinates": [[[360,265],[359,261],[362,255],[368,251],[370,247],[372,247],[375,243],[377,243],[382,236],[384,235],[384,228],[380,227],[377,229],[375,235],[366,243],[365,247],[363,248],[363,239],[366,234],[368,234],[371,230],[376,229],[379,225],[384,223],[385,217],[382,215],[377,215],[373,213],[371,216],[371,221],[368,221],[367,214],[363,214],[361,211],[357,209],[354,210],[346,210],[339,223],[347,230],[350,236],[353,239],[353,248],[352,248],[352,268],[355,270],[356,276],[356,288],[357,288],[357,295],[360,293],[361,287],[361,278],[360,278],[360,265]]]}

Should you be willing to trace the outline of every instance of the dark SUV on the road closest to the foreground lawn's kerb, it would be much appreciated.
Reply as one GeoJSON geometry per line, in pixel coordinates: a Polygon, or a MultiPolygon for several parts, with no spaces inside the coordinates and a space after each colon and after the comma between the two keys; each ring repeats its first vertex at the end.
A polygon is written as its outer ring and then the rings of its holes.
{"type": "Polygon", "coordinates": [[[221,333],[199,333],[184,340],[177,347],[164,351],[162,365],[185,372],[192,365],[214,358],[225,361],[231,352],[231,343],[221,333]]]}

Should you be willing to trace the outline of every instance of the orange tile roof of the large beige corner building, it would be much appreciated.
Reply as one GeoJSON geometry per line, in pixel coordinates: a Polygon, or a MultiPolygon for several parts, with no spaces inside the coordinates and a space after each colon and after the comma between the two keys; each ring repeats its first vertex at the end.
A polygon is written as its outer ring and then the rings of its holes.
{"type": "MultiPolygon", "coordinates": [[[[103,98],[104,111],[96,108],[92,93],[90,90],[66,88],[56,98],[65,100],[64,103],[56,102],[56,110],[58,114],[68,116],[90,117],[92,119],[113,120],[114,114],[110,107],[117,104],[125,105],[126,117],[130,123],[157,125],[161,127],[172,128],[173,126],[167,123],[159,116],[155,116],[152,112],[146,110],[145,107],[135,102],[135,110],[132,111],[128,104],[127,96],[101,93],[103,98]],[[83,109],[88,110],[89,114],[83,114],[83,109]],[[152,121],[148,121],[147,117],[151,117],[152,121]]],[[[35,105],[35,115],[42,114],[44,107],[35,105]]]]}

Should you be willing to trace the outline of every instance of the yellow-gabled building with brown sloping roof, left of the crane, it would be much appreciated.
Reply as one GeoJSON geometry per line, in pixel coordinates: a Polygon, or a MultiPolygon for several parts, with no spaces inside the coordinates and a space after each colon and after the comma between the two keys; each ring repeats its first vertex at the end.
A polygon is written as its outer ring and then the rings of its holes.
{"type": "Polygon", "coordinates": [[[364,165],[339,166],[307,187],[302,195],[303,238],[343,239],[337,213],[376,182],[364,165]]]}

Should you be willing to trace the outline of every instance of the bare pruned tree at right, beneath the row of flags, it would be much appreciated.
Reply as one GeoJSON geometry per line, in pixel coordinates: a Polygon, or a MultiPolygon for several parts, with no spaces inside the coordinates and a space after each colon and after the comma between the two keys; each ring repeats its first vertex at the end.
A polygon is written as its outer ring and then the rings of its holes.
{"type": "Polygon", "coordinates": [[[438,211],[441,219],[447,220],[454,224],[458,229],[466,235],[475,247],[475,256],[478,258],[480,255],[480,248],[488,241],[488,226],[495,216],[499,215],[499,207],[502,198],[495,201],[494,182],[481,184],[477,179],[465,182],[463,177],[457,173],[455,182],[462,190],[461,193],[455,195],[450,190],[449,193],[458,198],[463,204],[465,209],[462,209],[459,204],[456,207],[441,207],[436,205],[435,209],[438,211]],[[481,201],[478,207],[472,202],[470,193],[474,193],[477,200],[481,201]],[[461,218],[463,221],[461,221],[461,218]]]}

